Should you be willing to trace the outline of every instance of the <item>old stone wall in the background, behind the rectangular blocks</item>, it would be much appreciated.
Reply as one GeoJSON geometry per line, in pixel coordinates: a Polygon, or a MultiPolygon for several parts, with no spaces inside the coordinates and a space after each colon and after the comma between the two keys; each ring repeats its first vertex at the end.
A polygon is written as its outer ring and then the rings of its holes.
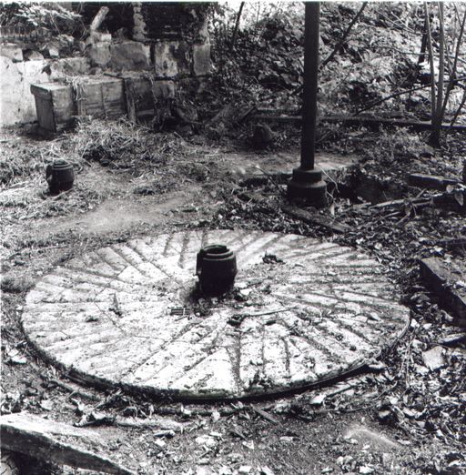
{"type": "Polygon", "coordinates": [[[101,5],[109,8],[109,14],[107,24],[90,32],[86,42],[75,39],[74,55],[79,56],[60,58],[55,48],[56,54],[54,50],[54,55],[44,58],[16,42],[0,45],[0,126],[36,120],[31,84],[131,71],[152,76],[156,82],[169,81],[170,90],[176,91],[179,84],[210,73],[207,4],[84,5],[81,13],[87,20],[101,5]]]}

